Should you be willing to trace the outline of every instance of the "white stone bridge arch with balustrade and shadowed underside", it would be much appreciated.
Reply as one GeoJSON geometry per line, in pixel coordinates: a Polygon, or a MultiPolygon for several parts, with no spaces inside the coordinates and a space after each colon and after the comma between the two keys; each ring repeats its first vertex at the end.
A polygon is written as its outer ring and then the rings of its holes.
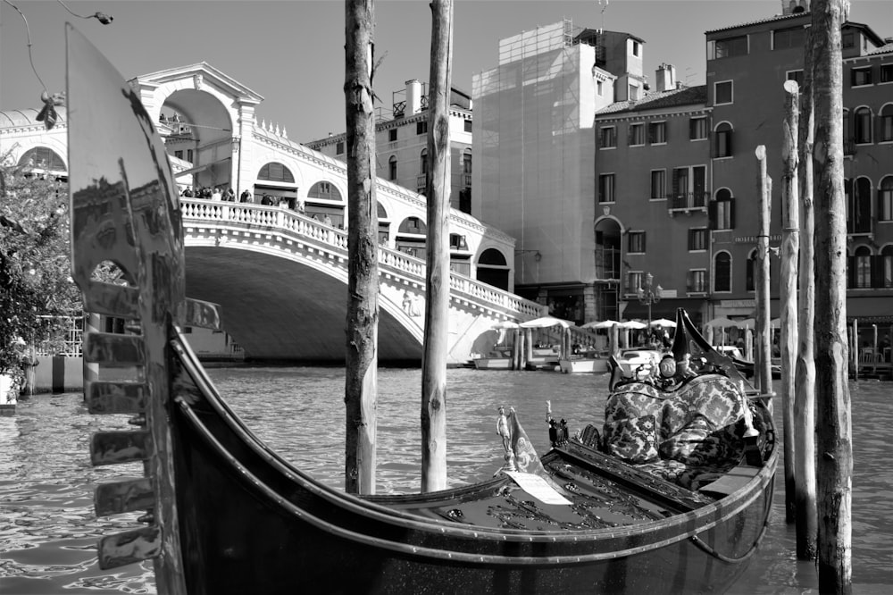
{"type": "MultiPolygon", "coordinates": [[[[190,298],[221,305],[223,324],[258,360],[342,362],[347,233],[284,206],[180,198],[190,298]]],[[[379,360],[421,361],[425,262],[379,247],[379,360]]],[[[500,321],[546,306],[453,272],[449,364],[487,353],[500,321]]]]}

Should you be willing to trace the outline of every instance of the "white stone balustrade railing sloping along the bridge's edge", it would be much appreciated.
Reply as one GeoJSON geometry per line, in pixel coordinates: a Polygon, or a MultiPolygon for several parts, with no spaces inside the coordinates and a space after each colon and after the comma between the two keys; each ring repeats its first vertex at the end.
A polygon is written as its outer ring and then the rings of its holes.
{"type": "MultiPolygon", "coordinates": [[[[184,222],[211,222],[265,227],[294,233],[312,239],[321,245],[338,250],[346,256],[347,232],[282,206],[254,205],[210,201],[202,198],[179,199],[184,222]]],[[[379,246],[379,264],[406,277],[423,283],[425,261],[389,247],[379,246]]],[[[528,299],[519,298],[508,291],[476,281],[466,275],[450,274],[450,291],[454,298],[472,300],[482,306],[497,309],[510,318],[522,320],[544,315],[543,306],[528,299]]]]}

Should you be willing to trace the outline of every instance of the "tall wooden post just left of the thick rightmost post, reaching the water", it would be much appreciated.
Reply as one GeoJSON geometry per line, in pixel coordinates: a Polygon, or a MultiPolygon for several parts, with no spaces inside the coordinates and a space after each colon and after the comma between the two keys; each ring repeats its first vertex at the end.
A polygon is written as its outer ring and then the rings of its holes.
{"type": "Polygon", "coordinates": [[[797,306],[797,377],[794,398],[794,506],[797,511],[797,557],[815,559],[815,272],[813,228],[813,58],[812,29],[806,29],[803,89],[800,94],[798,181],[800,184],[800,275],[797,306]]]}

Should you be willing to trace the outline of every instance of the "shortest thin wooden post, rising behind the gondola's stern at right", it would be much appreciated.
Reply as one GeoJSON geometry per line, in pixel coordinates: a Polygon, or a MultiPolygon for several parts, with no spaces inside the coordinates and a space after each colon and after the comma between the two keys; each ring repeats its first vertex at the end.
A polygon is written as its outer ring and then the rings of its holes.
{"type": "MultiPolygon", "coordinates": [[[[756,356],[754,374],[760,392],[772,392],[772,334],[769,328],[769,217],[772,207],[772,179],[766,174],[766,147],[756,147],[760,233],[756,236],[756,356]]],[[[772,402],[769,403],[770,409],[772,402]]]]}

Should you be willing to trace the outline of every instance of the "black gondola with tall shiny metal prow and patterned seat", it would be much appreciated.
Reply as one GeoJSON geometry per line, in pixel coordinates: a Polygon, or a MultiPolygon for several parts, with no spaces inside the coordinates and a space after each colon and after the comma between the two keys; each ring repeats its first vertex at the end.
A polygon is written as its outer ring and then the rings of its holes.
{"type": "Polygon", "coordinates": [[[701,349],[702,369],[617,380],[610,421],[593,412],[570,437],[550,419],[554,444],[541,457],[509,411],[507,468],[489,481],[358,497],[284,461],[233,413],[182,334],[219,328],[221,316],[185,297],[162,140],[104,56],[71,26],[67,37],[72,277],[86,311],[125,319],[128,331],[85,333],[86,397],[90,412],[132,415],[134,426],[94,434],[90,457],[146,470],[96,489],[97,515],[145,511],[99,541],[100,567],[151,558],[159,593],[193,595],[722,592],[743,572],[772,504],[772,416],[681,311],[672,358],[701,349]],[[120,283],[96,278],[109,262],[120,283]],[[623,399],[660,409],[714,393],[737,412],[720,429],[734,448],[707,472],[671,465],[689,472],[671,480],[648,466],[660,460],[635,463],[608,437],[647,417],[624,418],[623,399]]]}

